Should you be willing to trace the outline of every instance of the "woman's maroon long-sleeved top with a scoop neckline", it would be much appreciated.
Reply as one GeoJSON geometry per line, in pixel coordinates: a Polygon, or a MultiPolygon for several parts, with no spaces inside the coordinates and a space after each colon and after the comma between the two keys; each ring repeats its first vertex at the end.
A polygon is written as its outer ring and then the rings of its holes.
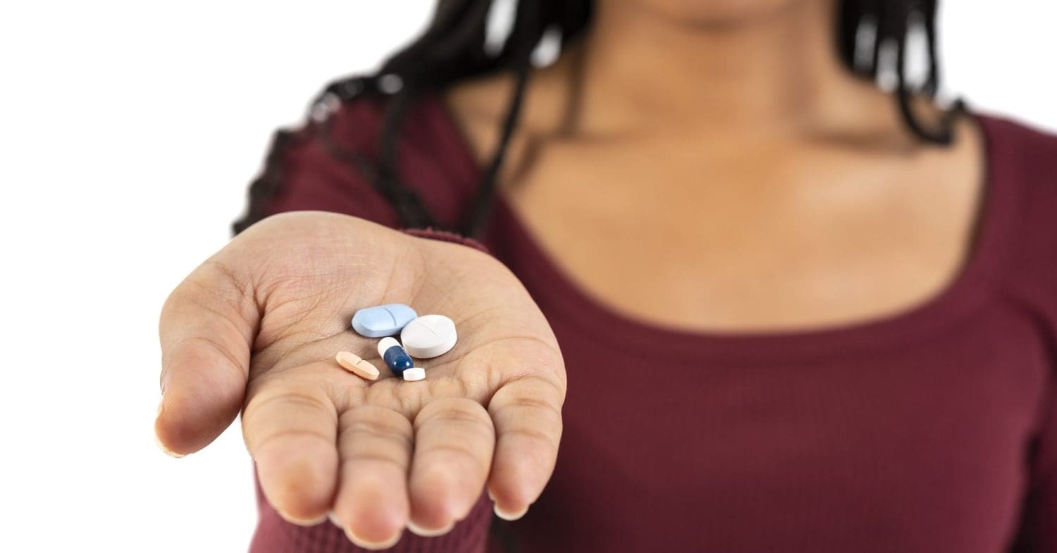
{"type": "MultiPolygon", "coordinates": [[[[333,142],[375,156],[382,102],[347,104],[333,142]]],[[[632,320],[577,289],[500,202],[484,241],[565,357],[557,468],[493,539],[482,499],[451,534],[406,533],[394,551],[1057,552],[1057,137],[977,118],[986,198],[961,274],[866,324],[717,334],[632,320]],[[644,366],[678,375],[645,382],[644,366]]],[[[478,182],[470,149],[435,97],[405,128],[404,180],[451,225],[478,182]]],[[[285,141],[259,207],[397,224],[322,132],[285,141]]],[[[252,552],[294,551],[358,549],[260,500],[252,552]]]]}

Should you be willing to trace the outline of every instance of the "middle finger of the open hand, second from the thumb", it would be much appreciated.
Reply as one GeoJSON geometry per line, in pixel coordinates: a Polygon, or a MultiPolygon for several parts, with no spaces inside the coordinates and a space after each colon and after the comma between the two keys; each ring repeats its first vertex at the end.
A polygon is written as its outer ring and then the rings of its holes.
{"type": "Polygon", "coordinates": [[[386,549],[400,539],[410,513],[412,439],[411,422],[395,410],[358,406],[341,414],[334,519],[357,546],[386,549]]]}

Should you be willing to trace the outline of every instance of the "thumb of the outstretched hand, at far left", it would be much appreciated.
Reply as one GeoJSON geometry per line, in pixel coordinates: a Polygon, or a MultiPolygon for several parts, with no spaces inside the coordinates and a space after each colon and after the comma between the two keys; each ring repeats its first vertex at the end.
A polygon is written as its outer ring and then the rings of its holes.
{"type": "Polygon", "coordinates": [[[198,268],[162,310],[162,403],[154,432],[170,455],[209,444],[242,406],[257,309],[230,272],[198,268]]]}

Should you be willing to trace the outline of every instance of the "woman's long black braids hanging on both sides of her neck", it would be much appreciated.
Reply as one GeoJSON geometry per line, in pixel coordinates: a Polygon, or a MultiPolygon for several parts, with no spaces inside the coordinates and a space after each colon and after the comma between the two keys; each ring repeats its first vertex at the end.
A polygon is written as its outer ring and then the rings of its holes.
{"type": "MultiPolygon", "coordinates": [[[[402,125],[414,98],[463,79],[498,71],[515,74],[516,85],[502,122],[500,140],[483,169],[466,220],[458,229],[468,236],[478,235],[487,223],[497,176],[518,125],[534,50],[546,33],[556,34],[561,44],[582,35],[591,21],[593,4],[591,0],[518,0],[509,35],[498,52],[492,52],[485,47],[485,38],[489,12],[497,3],[498,0],[440,0],[425,32],[390,57],[376,75],[334,81],[313,104],[317,119],[324,119],[340,103],[354,97],[365,94],[392,96],[385,109],[376,167],[369,168],[370,164],[363,159],[349,161],[394,205],[405,226],[437,224],[418,195],[401,184],[396,163],[402,125]]],[[[839,0],[835,17],[836,43],[840,59],[856,75],[876,78],[883,70],[894,72],[893,96],[907,128],[924,142],[947,145],[952,139],[951,128],[961,112],[961,103],[945,112],[933,128],[925,125],[911,107],[915,94],[931,97],[938,89],[935,13],[937,0],[839,0]],[[907,78],[907,42],[915,31],[924,35],[928,59],[928,73],[920,87],[912,86],[907,78]],[[894,67],[884,67],[882,53],[886,48],[894,49],[894,67]]],[[[278,135],[279,139],[283,136],[278,135]]],[[[273,148],[279,146],[277,141],[273,148]]],[[[260,209],[257,207],[255,213],[254,201],[272,193],[276,186],[279,178],[270,174],[277,170],[271,163],[273,158],[274,154],[270,155],[264,173],[251,186],[251,209],[236,223],[237,231],[256,221],[254,217],[259,217],[260,209]]]]}

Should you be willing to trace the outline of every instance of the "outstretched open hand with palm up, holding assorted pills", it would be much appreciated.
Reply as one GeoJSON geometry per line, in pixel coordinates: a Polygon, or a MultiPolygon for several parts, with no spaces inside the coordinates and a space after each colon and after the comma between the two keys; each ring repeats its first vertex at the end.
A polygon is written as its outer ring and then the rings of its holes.
{"type": "Polygon", "coordinates": [[[470,247],[334,214],[272,217],[177,288],[161,342],[163,446],[198,450],[241,410],[272,505],[299,523],[332,512],[360,546],[444,533],[485,486],[517,517],[554,467],[557,343],[509,271],[470,247]],[[455,349],[419,363],[425,381],[393,377],[377,339],[349,328],[357,309],[395,302],[458,328],[455,349]],[[340,369],[340,350],[382,377],[340,369]]]}

